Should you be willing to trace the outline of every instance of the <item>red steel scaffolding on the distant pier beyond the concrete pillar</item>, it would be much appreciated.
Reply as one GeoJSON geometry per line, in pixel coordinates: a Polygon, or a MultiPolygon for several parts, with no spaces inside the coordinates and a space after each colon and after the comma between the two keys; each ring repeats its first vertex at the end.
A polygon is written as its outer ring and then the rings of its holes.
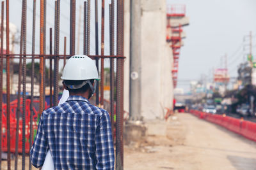
{"type": "Polygon", "coordinates": [[[172,23],[172,19],[179,19],[185,17],[186,6],[185,5],[168,5],[166,10],[167,18],[167,36],[166,41],[170,43],[170,47],[173,52],[173,69],[172,69],[172,79],[173,87],[177,87],[177,78],[179,71],[179,57],[180,57],[180,47],[182,46],[182,25],[178,23],[172,23]]]}

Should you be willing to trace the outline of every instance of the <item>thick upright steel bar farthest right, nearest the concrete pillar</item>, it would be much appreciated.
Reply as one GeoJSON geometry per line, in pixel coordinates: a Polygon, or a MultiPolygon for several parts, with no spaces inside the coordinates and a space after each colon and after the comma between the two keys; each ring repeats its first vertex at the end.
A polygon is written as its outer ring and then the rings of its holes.
{"type": "MultiPolygon", "coordinates": [[[[117,1],[117,55],[124,55],[124,0],[117,1]]],[[[116,169],[124,169],[124,59],[117,59],[116,71],[116,169]]]]}

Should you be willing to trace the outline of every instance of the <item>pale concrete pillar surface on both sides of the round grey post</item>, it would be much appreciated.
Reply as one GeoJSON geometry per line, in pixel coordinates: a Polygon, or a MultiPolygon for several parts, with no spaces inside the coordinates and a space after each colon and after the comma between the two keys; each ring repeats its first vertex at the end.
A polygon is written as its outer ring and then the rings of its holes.
{"type": "MultiPolygon", "coordinates": [[[[125,1],[124,109],[129,111],[129,1],[125,1]]],[[[166,1],[141,0],[141,116],[163,119],[172,109],[172,49],[166,43],[166,1]]]]}

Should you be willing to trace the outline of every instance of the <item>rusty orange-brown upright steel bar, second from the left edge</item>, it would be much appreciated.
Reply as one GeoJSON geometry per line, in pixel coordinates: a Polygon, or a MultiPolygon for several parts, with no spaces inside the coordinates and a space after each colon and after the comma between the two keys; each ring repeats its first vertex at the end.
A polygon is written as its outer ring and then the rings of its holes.
{"type": "Polygon", "coordinates": [[[11,169],[11,136],[10,136],[10,39],[9,39],[9,0],[6,0],[6,118],[7,118],[7,166],[11,169]]]}

